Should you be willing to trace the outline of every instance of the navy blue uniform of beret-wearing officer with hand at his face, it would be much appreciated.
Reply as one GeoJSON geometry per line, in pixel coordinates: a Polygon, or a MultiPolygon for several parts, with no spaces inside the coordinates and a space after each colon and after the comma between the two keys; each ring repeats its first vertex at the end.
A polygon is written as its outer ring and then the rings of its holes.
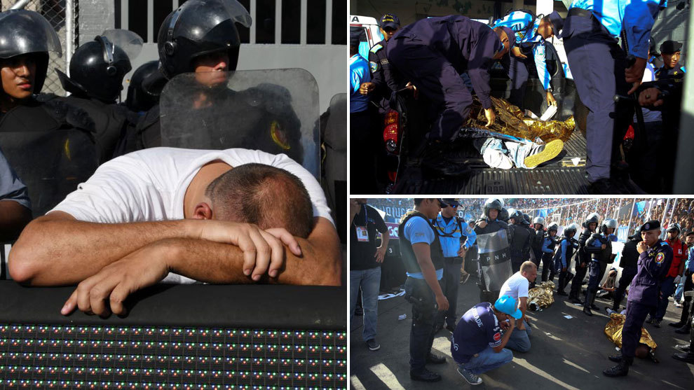
{"type": "Polygon", "coordinates": [[[665,279],[672,263],[672,248],[658,239],[651,248],[639,255],[637,274],[629,288],[627,316],[622,327],[622,356],[634,358],[641,339],[646,315],[658,306],[660,282],[665,279]]]}

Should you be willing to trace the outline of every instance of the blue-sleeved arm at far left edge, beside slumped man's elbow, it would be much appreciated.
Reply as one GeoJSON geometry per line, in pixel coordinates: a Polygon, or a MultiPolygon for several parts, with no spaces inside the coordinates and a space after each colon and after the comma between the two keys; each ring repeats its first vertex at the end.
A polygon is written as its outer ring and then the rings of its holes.
{"type": "Polygon", "coordinates": [[[17,238],[31,220],[27,187],[0,151],[0,242],[17,238]]]}

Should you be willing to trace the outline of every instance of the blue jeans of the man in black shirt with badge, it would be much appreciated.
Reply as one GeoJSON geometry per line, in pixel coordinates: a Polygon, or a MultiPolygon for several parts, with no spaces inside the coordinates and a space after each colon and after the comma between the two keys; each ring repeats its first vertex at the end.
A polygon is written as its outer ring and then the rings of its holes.
{"type": "Polygon", "coordinates": [[[364,308],[364,329],[362,337],[371,340],[376,337],[376,324],[379,315],[379,290],[381,288],[381,267],[369,270],[349,272],[350,314],[352,321],[357,305],[357,294],[362,289],[362,307],[364,308]]]}

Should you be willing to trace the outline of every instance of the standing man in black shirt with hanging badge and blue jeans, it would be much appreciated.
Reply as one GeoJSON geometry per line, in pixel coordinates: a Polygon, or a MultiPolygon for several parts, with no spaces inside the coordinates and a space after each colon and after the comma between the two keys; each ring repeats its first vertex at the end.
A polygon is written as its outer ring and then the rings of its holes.
{"type": "Polygon", "coordinates": [[[357,293],[362,291],[364,330],[362,335],[371,351],[381,345],[376,342],[381,264],[388,249],[388,226],[379,211],[367,204],[366,199],[350,200],[350,321],[354,318],[357,293]],[[381,233],[381,246],[376,247],[376,230],[381,233]]]}

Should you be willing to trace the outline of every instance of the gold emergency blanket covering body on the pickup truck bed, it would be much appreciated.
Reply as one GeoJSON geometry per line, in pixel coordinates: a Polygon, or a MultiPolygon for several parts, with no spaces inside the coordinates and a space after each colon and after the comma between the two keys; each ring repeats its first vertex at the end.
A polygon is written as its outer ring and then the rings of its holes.
{"type": "Polygon", "coordinates": [[[479,129],[487,129],[493,132],[512,135],[514,137],[529,139],[536,141],[540,138],[545,142],[553,139],[561,139],[569,141],[576,123],[573,116],[569,119],[561,120],[532,120],[523,115],[517,106],[510,104],[505,99],[497,99],[490,97],[491,103],[494,104],[494,113],[496,119],[490,127],[484,127],[487,124],[487,118],[484,116],[484,109],[479,103],[477,97],[473,97],[472,107],[470,108],[470,118],[465,122],[463,127],[477,127],[479,129]]]}

